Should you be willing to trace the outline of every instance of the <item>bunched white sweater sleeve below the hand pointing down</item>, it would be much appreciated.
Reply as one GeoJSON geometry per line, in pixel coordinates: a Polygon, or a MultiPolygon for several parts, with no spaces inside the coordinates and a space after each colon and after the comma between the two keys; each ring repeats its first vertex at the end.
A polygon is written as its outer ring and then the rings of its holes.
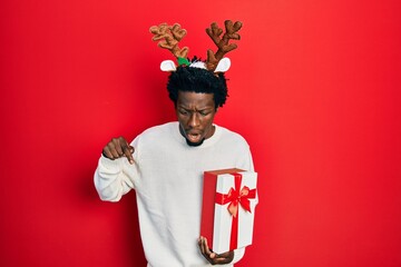
{"type": "Polygon", "coordinates": [[[134,188],[134,169],[126,158],[110,160],[100,157],[95,171],[95,188],[101,200],[118,201],[134,188]]]}

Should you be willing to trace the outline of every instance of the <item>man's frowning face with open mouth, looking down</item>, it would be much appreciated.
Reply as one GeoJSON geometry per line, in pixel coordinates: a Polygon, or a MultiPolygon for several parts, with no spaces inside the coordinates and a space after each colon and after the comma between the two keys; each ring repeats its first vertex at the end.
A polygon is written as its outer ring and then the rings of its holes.
{"type": "Polygon", "coordinates": [[[216,107],[213,93],[178,91],[176,113],[179,131],[189,146],[200,146],[214,134],[216,107]]]}

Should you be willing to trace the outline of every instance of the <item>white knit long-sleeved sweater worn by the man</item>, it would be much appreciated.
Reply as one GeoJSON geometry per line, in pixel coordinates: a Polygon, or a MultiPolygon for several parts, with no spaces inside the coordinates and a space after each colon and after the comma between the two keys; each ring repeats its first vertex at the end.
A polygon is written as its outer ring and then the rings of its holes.
{"type": "MultiPolygon", "coordinates": [[[[253,170],[250,147],[239,135],[215,126],[199,147],[189,147],[178,122],[147,129],[131,145],[134,165],[126,158],[99,159],[95,186],[102,200],[118,201],[135,189],[140,236],[148,266],[209,266],[197,246],[203,172],[253,170]]],[[[233,264],[244,249],[235,250],[233,264]]],[[[232,266],[232,265],[226,265],[232,266]]]]}

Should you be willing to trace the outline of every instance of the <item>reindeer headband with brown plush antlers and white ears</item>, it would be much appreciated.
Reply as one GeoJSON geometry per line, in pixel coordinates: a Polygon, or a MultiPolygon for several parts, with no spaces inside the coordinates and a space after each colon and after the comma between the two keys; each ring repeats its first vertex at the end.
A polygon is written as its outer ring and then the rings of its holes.
{"type": "MultiPolygon", "coordinates": [[[[186,36],[187,31],[180,28],[180,24],[175,23],[168,26],[167,23],[162,23],[159,26],[150,27],[150,32],[154,33],[153,40],[159,41],[158,46],[164,49],[168,49],[178,61],[178,65],[186,65],[195,68],[203,68],[214,72],[225,72],[229,69],[231,61],[228,58],[223,58],[227,52],[237,48],[236,43],[228,43],[229,40],[239,40],[241,37],[237,33],[242,28],[242,22],[236,21],[233,23],[231,20],[226,20],[225,32],[223,29],[218,28],[216,22],[211,24],[211,28],[206,29],[207,34],[211,37],[213,42],[217,46],[217,52],[214,53],[212,49],[207,50],[207,60],[206,62],[189,62],[187,60],[187,55],[189,49],[184,47],[180,49],[178,42],[186,36]]],[[[160,65],[160,69],[164,71],[175,71],[176,65],[172,60],[165,60],[160,65]]]]}

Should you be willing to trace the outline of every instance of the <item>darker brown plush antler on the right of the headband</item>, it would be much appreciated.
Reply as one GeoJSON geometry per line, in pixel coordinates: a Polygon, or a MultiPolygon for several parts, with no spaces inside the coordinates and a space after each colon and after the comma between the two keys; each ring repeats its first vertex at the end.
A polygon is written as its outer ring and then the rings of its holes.
{"type": "Polygon", "coordinates": [[[239,29],[242,28],[242,22],[236,21],[233,23],[231,20],[224,21],[226,32],[221,38],[221,34],[223,33],[223,29],[218,28],[216,22],[213,22],[211,24],[211,28],[206,29],[207,34],[212,38],[214,43],[217,46],[218,50],[216,53],[213,53],[213,50],[207,50],[207,60],[206,60],[206,67],[208,70],[215,70],[218,61],[224,57],[225,53],[234,50],[237,48],[236,43],[228,43],[229,39],[233,40],[239,40],[241,37],[237,33],[239,29]]]}

